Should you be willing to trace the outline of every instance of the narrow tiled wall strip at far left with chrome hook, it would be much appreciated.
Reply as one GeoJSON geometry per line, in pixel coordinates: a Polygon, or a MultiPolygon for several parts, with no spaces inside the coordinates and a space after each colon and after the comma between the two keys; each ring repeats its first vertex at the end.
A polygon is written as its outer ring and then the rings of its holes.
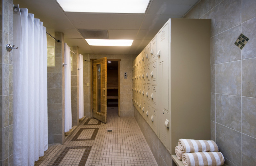
{"type": "Polygon", "coordinates": [[[13,165],[13,51],[5,49],[13,43],[13,3],[0,3],[0,165],[13,165]]]}

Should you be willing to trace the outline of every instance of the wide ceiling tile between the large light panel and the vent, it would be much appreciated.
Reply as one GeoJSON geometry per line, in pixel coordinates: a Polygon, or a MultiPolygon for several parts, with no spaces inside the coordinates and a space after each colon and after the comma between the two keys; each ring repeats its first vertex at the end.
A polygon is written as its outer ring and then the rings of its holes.
{"type": "Polygon", "coordinates": [[[145,14],[66,13],[77,29],[139,29],[145,14]]]}

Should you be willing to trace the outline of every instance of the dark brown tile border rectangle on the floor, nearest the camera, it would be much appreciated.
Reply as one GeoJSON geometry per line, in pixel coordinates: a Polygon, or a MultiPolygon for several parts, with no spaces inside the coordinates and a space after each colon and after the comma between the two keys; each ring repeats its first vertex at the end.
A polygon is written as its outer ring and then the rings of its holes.
{"type": "Polygon", "coordinates": [[[60,153],[59,157],[54,161],[52,166],[58,166],[70,149],[84,149],[84,154],[78,164],[78,166],[84,166],[91,152],[92,146],[65,147],[64,150],[60,153]]]}

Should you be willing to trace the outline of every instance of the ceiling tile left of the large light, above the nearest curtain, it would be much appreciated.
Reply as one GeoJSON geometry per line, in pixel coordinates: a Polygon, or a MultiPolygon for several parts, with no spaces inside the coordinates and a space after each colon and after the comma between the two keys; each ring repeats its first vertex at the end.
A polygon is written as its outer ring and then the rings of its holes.
{"type": "Polygon", "coordinates": [[[54,0],[13,0],[13,4],[19,4],[22,8],[28,8],[28,12],[35,14],[35,18],[40,19],[47,28],[74,28],[54,0]]]}

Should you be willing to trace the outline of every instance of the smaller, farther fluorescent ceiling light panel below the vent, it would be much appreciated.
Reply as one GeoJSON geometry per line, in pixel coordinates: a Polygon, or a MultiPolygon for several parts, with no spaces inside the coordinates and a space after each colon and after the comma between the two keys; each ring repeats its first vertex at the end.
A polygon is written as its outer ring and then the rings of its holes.
{"type": "Polygon", "coordinates": [[[131,46],[133,40],[85,39],[90,46],[131,46]]]}

